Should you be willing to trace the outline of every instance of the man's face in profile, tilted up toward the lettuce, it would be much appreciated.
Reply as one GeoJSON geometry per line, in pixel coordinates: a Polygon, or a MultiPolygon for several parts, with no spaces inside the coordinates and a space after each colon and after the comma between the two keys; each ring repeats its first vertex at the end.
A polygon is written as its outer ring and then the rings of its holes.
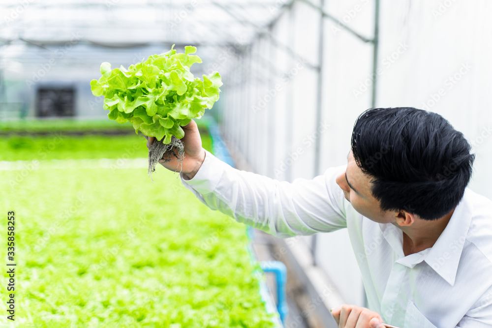
{"type": "Polygon", "coordinates": [[[370,192],[371,179],[357,166],[352,150],[350,150],[347,159],[348,164],[345,172],[337,177],[338,186],[343,190],[345,198],[356,211],[372,221],[393,222],[395,214],[390,211],[381,211],[379,201],[370,192]]]}

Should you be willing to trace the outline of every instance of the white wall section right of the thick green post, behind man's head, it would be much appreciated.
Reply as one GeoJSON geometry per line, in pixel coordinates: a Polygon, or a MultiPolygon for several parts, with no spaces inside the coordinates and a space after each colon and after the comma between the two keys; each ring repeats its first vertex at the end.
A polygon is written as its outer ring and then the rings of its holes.
{"type": "Polygon", "coordinates": [[[431,110],[463,132],[477,154],[470,188],[489,199],[491,14],[492,2],[486,0],[383,1],[381,55],[403,41],[408,50],[380,77],[377,94],[380,107],[431,110]]]}

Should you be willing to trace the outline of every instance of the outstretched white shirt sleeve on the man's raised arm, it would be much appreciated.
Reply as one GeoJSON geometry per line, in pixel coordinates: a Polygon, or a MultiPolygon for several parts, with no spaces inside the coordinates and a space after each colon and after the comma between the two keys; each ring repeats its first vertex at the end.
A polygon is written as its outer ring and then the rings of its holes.
{"type": "Polygon", "coordinates": [[[180,177],[209,208],[279,238],[346,228],[348,201],[335,181],[343,166],[289,183],[237,170],[205,153],[193,179],[180,177]]]}

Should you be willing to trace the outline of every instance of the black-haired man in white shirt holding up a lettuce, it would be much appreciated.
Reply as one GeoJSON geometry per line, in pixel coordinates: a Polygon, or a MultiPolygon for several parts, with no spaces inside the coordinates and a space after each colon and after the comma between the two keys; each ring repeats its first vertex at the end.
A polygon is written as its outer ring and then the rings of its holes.
{"type": "Polygon", "coordinates": [[[211,209],[281,238],[348,229],[369,309],[334,309],[339,327],[492,327],[492,202],[466,188],[474,155],[446,119],[369,109],[346,166],[292,183],[231,168],[195,122],[184,131],[182,182],[211,209]]]}

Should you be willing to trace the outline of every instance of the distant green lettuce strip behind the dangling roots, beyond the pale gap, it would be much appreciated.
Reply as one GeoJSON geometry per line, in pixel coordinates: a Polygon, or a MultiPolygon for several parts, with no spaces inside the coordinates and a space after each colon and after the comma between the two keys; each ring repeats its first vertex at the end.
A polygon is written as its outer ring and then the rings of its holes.
{"type": "MultiPolygon", "coordinates": [[[[196,120],[203,148],[212,140],[202,120],[196,120]]],[[[148,154],[142,135],[130,123],[112,120],[50,119],[0,122],[0,161],[84,158],[139,158],[148,154]],[[127,135],[101,135],[105,132],[127,135]],[[81,135],[73,135],[74,132],[81,135]],[[43,133],[43,135],[36,135],[43,133]]]]}

